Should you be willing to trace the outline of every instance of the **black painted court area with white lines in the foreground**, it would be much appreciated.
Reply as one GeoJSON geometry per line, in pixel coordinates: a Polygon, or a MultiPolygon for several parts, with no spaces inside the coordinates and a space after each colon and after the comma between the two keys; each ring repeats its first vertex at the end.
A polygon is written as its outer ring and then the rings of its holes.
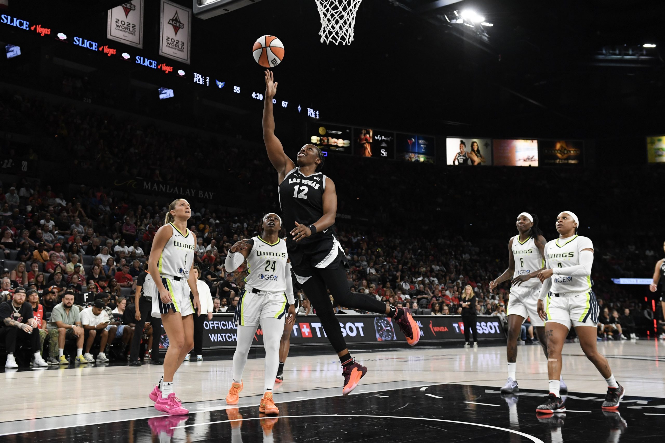
{"type": "Polygon", "coordinates": [[[434,385],[285,402],[275,417],[259,416],[252,406],[45,430],[2,441],[629,443],[663,435],[665,415],[647,414],[665,414],[665,399],[626,396],[616,413],[602,412],[600,395],[575,393],[566,399],[566,414],[537,416],[543,398],[528,390],[503,397],[497,388],[434,385]]]}

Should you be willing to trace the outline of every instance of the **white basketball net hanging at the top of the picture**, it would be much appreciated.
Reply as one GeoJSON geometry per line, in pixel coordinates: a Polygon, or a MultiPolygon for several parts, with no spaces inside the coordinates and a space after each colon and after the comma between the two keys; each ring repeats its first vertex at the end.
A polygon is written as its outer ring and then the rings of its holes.
{"type": "Polygon", "coordinates": [[[362,0],[315,0],[321,16],[321,43],[351,44],[362,0]]]}

